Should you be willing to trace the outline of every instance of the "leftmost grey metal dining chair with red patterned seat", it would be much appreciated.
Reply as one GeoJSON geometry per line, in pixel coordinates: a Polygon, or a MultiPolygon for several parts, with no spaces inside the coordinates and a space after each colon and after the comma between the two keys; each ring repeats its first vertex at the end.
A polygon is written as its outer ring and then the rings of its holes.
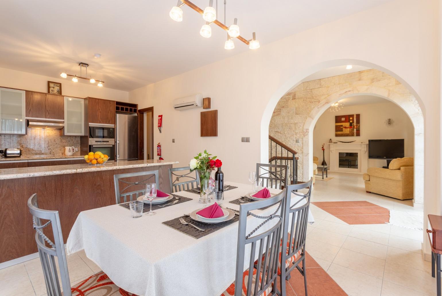
{"type": "MultiPolygon", "coordinates": [[[[103,271],[95,273],[71,287],[58,211],[38,208],[37,194],[35,193],[28,199],[27,206],[32,215],[32,227],[35,230],[35,242],[37,243],[38,255],[42,263],[47,296],[72,296],[72,292],[78,293],[76,295],[84,296],[111,295],[113,293],[117,294],[120,291],[120,288],[103,271]],[[42,224],[42,220],[47,220],[47,222],[42,224]],[[48,226],[52,228],[52,232],[46,231],[45,234],[45,228],[48,226]],[[55,257],[57,257],[60,274],[57,271],[55,257]],[[63,288],[63,292],[61,292],[61,288],[63,288]]],[[[127,295],[131,294],[128,293],[127,295]]]]}

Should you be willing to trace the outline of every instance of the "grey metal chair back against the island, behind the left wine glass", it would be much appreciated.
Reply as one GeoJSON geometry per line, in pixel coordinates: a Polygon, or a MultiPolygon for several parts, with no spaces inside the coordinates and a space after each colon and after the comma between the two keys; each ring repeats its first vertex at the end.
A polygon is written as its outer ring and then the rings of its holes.
{"type": "Polygon", "coordinates": [[[160,189],[158,170],[114,175],[115,203],[121,204],[127,203],[128,201],[137,200],[139,196],[146,194],[146,186],[143,185],[149,183],[156,183],[156,188],[160,189]],[[135,181],[140,179],[139,176],[145,177],[141,178],[143,179],[141,181],[135,181]],[[120,182],[123,184],[122,189],[120,189],[120,182]],[[127,190],[129,188],[136,189],[132,191],[127,190]]]}

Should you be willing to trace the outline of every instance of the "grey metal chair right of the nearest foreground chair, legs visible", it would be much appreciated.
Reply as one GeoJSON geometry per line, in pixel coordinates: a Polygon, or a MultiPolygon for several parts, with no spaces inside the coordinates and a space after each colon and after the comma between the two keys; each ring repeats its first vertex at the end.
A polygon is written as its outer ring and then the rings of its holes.
{"type": "Polygon", "coordinates": [[[286,290],[286,279],[290,278],[291,271],[296,267],[304,277],[305,295],[307,296],[307,278],[305,274],[305,238],[307,236],[307,218],[309,216],[310,196],[312,193],[313,178],[309,181],[287,185],[286,199],[284,206],[284,223],[281,244],[281,282],[282,291],[286,290]],[[296,192],[297,190],[309,188],[307,193],[296,192]],[[291,202],[292,193],[298,196],[296,202],[291,202]],[[297,204],[305,200],[305,204],[298,206],[297,204]],[[300,253],[300,254],[299,254],[300,253]],[[286,260],[298,254],[295,261],[286,267],[286,260]],[[302,261],[302,269],[299,264],[302,261]]]}

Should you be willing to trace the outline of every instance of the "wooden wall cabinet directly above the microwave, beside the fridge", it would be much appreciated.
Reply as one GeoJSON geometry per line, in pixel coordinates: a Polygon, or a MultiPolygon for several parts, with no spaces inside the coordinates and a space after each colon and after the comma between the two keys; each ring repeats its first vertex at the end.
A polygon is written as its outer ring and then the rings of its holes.
{"type": "Polygon", "coordinates": [[[88,97],[89,123],[115,124],[115,101],[88,97]]]}

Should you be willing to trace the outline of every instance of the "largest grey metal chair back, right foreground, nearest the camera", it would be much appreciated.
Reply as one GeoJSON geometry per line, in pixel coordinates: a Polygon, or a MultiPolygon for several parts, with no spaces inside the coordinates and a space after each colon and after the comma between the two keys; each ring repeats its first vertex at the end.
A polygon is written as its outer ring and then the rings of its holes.
{"type": "MultiPolygon", "coordinates": [[[[248,281],[244,282],[247,287],[247,296],[262,295],[272,284],[272,295],[276,295],[277,276],[278,276],[278,254],[281,250],[280,240],[282,235],[282,213],[284,207],[285,191],[276,196],[259,200],[248,204],[240,205],[240,221],[238,230],[238,247],[236,252],[236,277],[235,277],[235,296],[241,296],[243,287],[244,259],[246,259],[249,270],[248,281]],[[252,213],[252,210],[278,205],[277,209],[271,215],[261,216],[252,213]],[[252,231],[247,230],[247,215],[253,216],[251,219],[260,219],[259,226],[252,231]],[[269,223],[269,224],[267,224],[269,223]],[[270,229],[259,231],[263,226],[270,229]],[[250,253],[245,254],[246,246],[250,246],[250,253]],[[256,250],[258,250],[258,261],[255,275],[255,285],[252,286],[253,268],[256,260],[256,250]],[[247,257],[246,257],[247,256],[247,257]],[[261,261],[262,260],[262,261],[261,261]],[[262,273],[262,274],[261,274],[262,273]]],[[[249,220],[251,220],[249,219],[249,220]]]]}

